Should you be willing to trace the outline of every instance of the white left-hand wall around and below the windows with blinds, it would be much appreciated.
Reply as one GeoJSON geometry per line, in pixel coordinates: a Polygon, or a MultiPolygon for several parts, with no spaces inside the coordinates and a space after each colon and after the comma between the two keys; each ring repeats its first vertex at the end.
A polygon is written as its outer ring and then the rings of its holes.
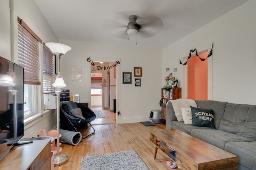
{"type": "MultiPolygon", "coordinates": [[[[58,42],[58,37],[56,37],[55,33],[52,31],[34,1],[0,0],[1,57],[18,63],[18,16],[43,40],[43,42],[58,42]]],[[[38,129],[45,129],[46,132],[53,129],[56,126],[56,113],[54,111],[55,110],[50,112],[46,111],[43,113],[43,117],[39,115],[33,122],[28,121],[25,123],[24,137],[36,137],[38,129]]]]}

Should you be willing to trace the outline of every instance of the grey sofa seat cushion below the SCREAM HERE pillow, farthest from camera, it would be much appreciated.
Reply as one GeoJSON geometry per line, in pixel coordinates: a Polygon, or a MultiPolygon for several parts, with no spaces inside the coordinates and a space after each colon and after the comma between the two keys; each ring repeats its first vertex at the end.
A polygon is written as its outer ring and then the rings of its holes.
{"type": "Polygon", "coordinates": [[[190,135],[192,129],[211,129],[211,128],[210,127],[199,127],[199,126],[185,125],[183,121],[172,121],[171,129],[178,129],[178,130],[190,135]]]}

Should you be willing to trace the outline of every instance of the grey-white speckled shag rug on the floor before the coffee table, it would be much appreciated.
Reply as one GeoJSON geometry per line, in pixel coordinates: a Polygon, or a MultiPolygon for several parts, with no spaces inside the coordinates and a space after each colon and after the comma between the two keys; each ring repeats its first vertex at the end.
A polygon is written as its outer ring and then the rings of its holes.
{"type": "Polygon", "coordinates": [[[134,150],[85,156],[80,170],[148,170],[134,150]]]}

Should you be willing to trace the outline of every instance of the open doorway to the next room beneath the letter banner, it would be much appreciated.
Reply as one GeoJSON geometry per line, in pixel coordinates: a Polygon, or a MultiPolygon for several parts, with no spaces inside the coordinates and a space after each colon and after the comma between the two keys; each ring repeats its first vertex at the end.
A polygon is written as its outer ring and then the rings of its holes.
{"type": "Polygon", "coordinates": [[[98,79],[91,77],[91,109],[96,114],[96,119],[92,121],[92,125],[116,123],[116,113],[113,112],[114,109],[111,103],[112,99],[116,99],[116,81],[114,80],[114,68],[112,67],[114,64],[112,62],[94,61],[94,68],[91,66],[92,76],[101,75],[96,76],[100,80],[97,85],[100,91],[98,96],[92,93],[92,89],[95,88],[94,82],[98,79]],[[95,102],[97,97],[100,100],[99,102],[95,102]]]}

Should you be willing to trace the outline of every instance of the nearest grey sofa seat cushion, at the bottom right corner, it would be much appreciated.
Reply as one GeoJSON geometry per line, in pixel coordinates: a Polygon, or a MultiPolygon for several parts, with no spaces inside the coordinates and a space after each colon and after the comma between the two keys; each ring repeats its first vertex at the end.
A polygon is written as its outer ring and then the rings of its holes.
{"type": "Polygon", "coordinates": [[[224,150],[237,155],[240,164],[256,170],[256,141],[226,143],[224,150]]]}

